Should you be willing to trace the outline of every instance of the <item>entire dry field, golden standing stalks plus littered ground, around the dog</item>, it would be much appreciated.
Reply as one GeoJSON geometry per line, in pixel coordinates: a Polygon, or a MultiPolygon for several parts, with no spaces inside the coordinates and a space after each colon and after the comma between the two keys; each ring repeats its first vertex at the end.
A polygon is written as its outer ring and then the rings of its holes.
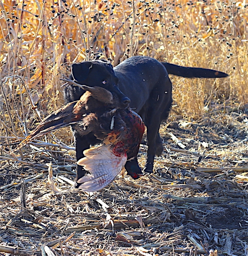
{"type": "MultiPolygon", "coordinates": [[[[248,5],[244,1],[2,0],[0,255],[248,255],[248,5]],[[154,173],[72,188],[61,129],[10,153],[63,101],[61,77],[96,56],[148,55],[229,74],[171,76],[154,173]],[[48,178],[48,173],[50,178],[48,178]]],[[[144,166],[145,137],[138,160],[144,166]]]]}

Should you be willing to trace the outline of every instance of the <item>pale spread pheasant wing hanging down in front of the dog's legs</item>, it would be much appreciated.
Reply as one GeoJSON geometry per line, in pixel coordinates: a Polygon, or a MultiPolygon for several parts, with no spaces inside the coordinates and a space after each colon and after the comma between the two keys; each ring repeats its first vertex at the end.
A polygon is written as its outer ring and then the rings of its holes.
{"type": "Polygon", "coordinates": [[[121,172],[126,163],[126,153],[116,153],[111,146],[100,145],[83,151],[84,158],[77,164],[91,172],[80,178],[79,189],[93,192],[106,187],[121,172]]]}

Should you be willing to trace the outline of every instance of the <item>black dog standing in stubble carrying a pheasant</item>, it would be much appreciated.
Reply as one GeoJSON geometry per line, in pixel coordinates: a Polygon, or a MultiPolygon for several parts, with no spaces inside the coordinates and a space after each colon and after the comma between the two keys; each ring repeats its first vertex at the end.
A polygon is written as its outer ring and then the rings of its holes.
{"type": "MultiPolygon", "coordinates": [[[[180,77],[227,77],[228,75],[212,69],[181,67],[167,62],[158,62],[151,57],[131,57],[116,67],[102,60],[86,61],[72,65],[72,77],[79,84],[102,86],[116,93],[125,108],[129,102],[147,127],[148,152],[145,172],[153,171],[154,156],[163,152],[162,139],[158,133],[160,123],[166,120],[172,105],[172,83],[168,74],[180,77]],[[119,89],[118,89],[119,88],[119,89]],[[128,98],[127,98],[127,97],[128,98]],[[131,101],[130,101],[130,100],[131,101]]],[[[79,100],[84,93],[77,86],[67,85],[64,89],[66,103],[79,100]]],[[[74,130],[76,158],[83,157],[83,150],[98,143],[93,134],[80,136],[74,130]]],[[[127,171],[142,173],[137,158],[128,161],[127,171]]],[[[77,166],[77,178],[85,175],[81,166],[77,166]]]]}

